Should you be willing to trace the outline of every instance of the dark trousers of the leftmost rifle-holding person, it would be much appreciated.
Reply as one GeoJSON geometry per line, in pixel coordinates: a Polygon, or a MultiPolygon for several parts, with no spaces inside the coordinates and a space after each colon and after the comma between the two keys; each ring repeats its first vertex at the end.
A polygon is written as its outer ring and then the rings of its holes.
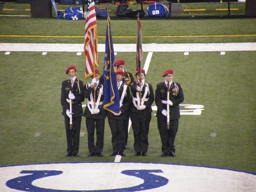
{"type": "Polygon", "coordinates": [[[69,117],[65,117],[65,129],[67,137],[67,153],[77,154],[79,150],[79,138],[81,129],[81,119],[82,117],[72,118],[72,129],[69,129],[69,117]]]}

